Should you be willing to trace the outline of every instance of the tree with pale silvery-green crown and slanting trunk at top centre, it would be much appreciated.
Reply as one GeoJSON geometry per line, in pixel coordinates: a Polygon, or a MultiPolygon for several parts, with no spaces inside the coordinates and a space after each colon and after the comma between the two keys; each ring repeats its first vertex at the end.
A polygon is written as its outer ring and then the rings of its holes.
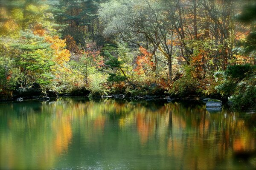
{"type": "Polygon", "coordinates": [[[169,80],[172,82],[173,27],[166,20],[163,9],[155,1],[113,0],[102,4],[99,16],[105,22],[105,36],[118,35],[125,42],[145,48],[151,45],[155,65],[155,53],[159,50],[168,61],[169,80]]]}

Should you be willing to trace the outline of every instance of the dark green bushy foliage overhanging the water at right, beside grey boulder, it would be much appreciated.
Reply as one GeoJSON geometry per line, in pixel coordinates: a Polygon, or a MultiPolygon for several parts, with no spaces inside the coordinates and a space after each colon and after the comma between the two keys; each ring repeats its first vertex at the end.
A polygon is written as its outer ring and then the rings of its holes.
{"type": "Polygon", "coordinates": [[[256,66],[229,66],[224,72],[224,82],[217,89],[223,96],[230,96],[234,108],[256,108],[256,66]]]}

